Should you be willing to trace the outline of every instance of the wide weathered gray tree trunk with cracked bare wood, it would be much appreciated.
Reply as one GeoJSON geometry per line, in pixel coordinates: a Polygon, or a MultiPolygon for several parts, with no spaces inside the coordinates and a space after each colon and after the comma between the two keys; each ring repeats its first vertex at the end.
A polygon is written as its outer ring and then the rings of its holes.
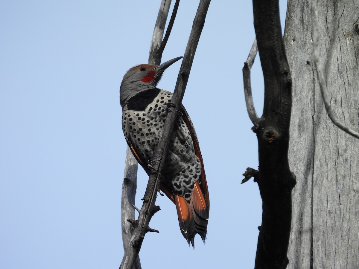
{"type": "MultiPolygon", "coordinates": [[[[321,60],[337,117],[358,131],[358,2],[320,1],[321,60]]],[[[310,0],[289,0],[289,164],[297,175],[288,268],[359,268],[359,141],[327,116],[313,63],[310,0]]]]}

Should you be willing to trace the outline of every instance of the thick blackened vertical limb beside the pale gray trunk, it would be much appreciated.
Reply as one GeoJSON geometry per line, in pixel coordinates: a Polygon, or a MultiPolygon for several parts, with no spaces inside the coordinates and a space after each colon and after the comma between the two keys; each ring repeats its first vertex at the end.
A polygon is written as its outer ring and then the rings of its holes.
{"type": "Polygon", "coordinates": [[[278,0],[253,0],[254,26],[264,75],[258,137],[262,225],[255,268],[286,268],[295,176],[288,164],[292,77],[281,33],[278,0]]]}

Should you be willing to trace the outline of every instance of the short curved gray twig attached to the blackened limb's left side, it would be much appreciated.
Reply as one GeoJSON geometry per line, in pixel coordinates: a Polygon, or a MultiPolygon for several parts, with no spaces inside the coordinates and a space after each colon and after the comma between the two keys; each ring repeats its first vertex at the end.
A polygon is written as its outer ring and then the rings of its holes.
{"type": "Polygon", "coordinates": [[[247,107],[249,118],[251,119],[254,125],[256,125],[258,121],[258,116],[253,104],[252,87],[251,87],[251,68],[254,63],[254,59],[256,58],[257,52],[258,52],[257,39],[254,39],[251,51],[243,67],[244,98],[246,99],[246,107],[247,107]]]}

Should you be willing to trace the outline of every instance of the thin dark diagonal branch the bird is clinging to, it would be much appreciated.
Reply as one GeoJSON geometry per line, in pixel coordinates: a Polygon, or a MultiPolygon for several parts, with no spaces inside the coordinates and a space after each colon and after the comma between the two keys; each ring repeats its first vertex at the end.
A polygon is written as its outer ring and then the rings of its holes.
{"type": "MultiPolygon", "coordinates": [[[[185,88],[188,81],[188,76],[190,74],[192,62],[194,59],[194,55],[196,52],[197,44],[204,26],[205,17],[207,14],[207,10],[210,4],[210,0],[201,0],[199,7],[197,9],[197,13],[194,19],[194,23],[192,26],[190,38],[188,39],[187,47],[185,50],[185,55],[183,57],[182,65],[180,73],[178,74],[176,87],[174,89],[172,103],[179,108],[182,103],[182,98],[185,93],[185,88]]],[[[172,108],[174,111],[177,111],[176,108],[172,108]]],[[[178,113],[168,113],[166,122],[164,124],[164,129],[162,133],[162,137],[159,140],[159,144],[155,151],[155,163],[153,165],[154,169],[157,173],[150,175],[149,182],[146,188],[144,203],[141,208],[139,218],[134,223],[134,232],[131,237],[131,241],[129,245],[126,247],[125,255],[123,256],[122,263],[120,265],[121,269],[129,269],[132,268],[134,261],[140,251],[144,235],[147,231],[149,231],[149,222],[154,215],[155,212],[159,210],[159,207],[155,206],[155,200],[157,196],[157,186],[158,186],[158,178],[159,171],[161,171],[164,161],[162,161],[162,155],[167,151],[168,148],[168,137],[172,132],[174,122],[178,113]]]]}

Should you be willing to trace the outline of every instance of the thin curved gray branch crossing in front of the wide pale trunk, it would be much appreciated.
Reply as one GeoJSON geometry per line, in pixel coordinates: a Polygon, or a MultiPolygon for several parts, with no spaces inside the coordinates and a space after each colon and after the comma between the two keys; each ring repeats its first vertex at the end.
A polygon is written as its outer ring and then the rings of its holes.
{"type": "Polygon", "coordinates": [[[325,109],[327,110],[329,118],[332,120],[332,122],[338,126],[340,129],[342,129],[344,132],[349,133],[349,135],[352,135],[356,138],[359,138],[359,133],[355,132],[350,127],[345,126],[344,123],[342,123],[338,117],[335,115],[331,105],[330,100],[328,96],[327,91],[327,85],[324,79],[324,73],[323,73],[323,65],[322,60],[320,57],[320,34],[319,34],[319,25],[318,25],[318,1],[312,0],[312,6],[311,6],[311,17],[312,17],[312,39],[313,39],[313,48],[314,48],[314,63],[316,65],[316,71],[318,75],[318,82],[320,86],[320,91],[322,93],[323,101],[325,104],[325,109]]]}

